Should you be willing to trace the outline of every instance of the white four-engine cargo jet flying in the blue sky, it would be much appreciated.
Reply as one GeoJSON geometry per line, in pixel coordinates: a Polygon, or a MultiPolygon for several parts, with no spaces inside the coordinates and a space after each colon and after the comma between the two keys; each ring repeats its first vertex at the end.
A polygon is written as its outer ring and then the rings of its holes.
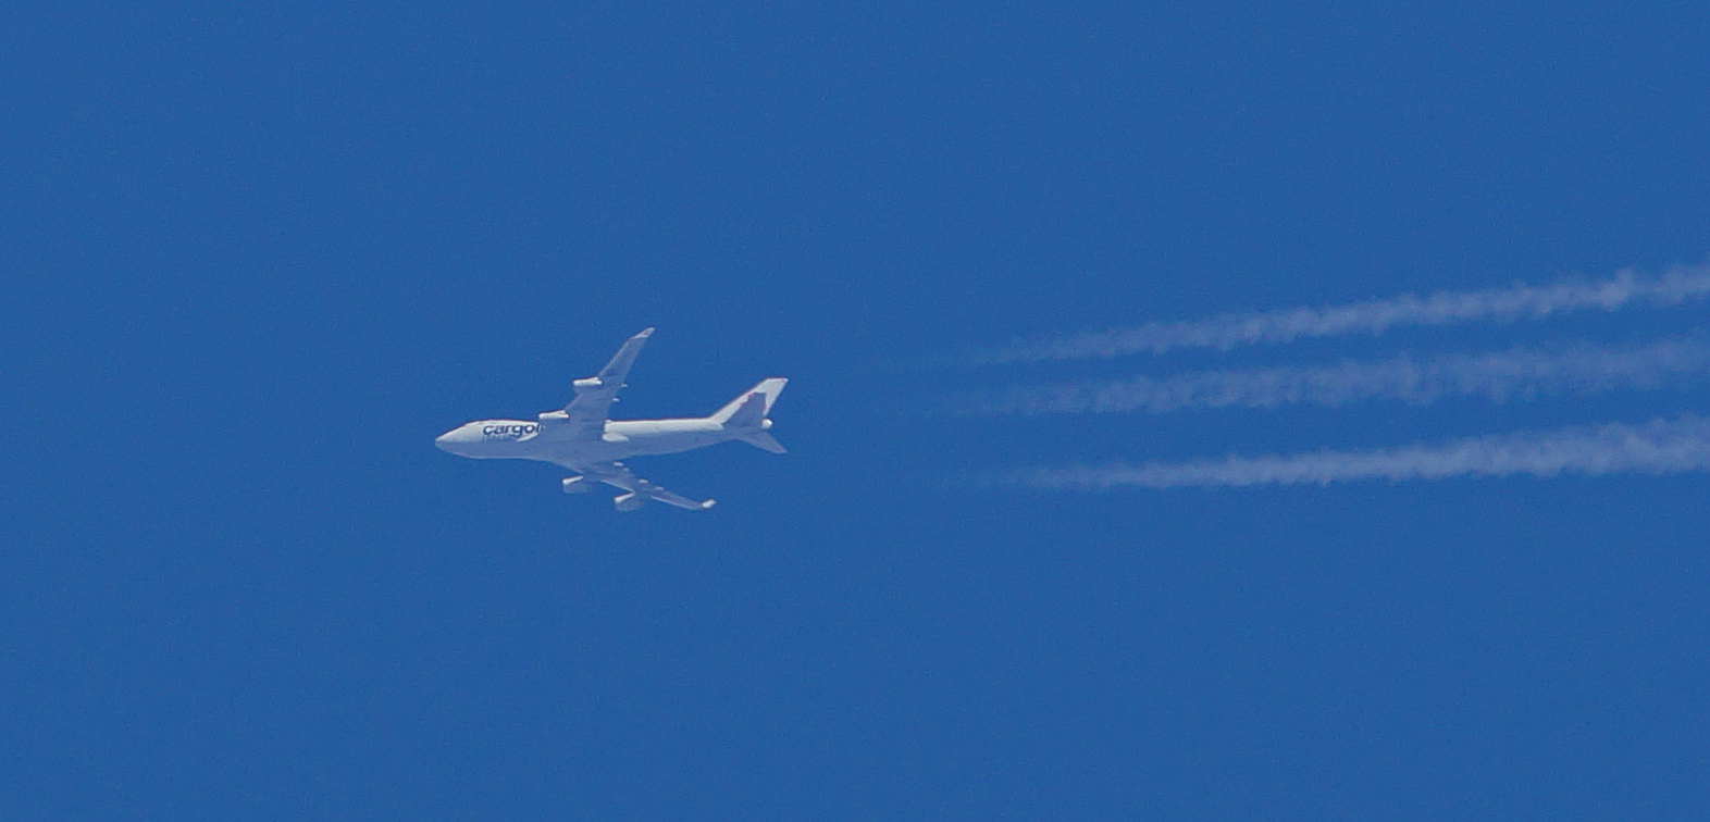
{"type": "Polygon", "coordinates": [[[730,439],[781,455],[783,446],[766,432],[771,427],[766,414],[778,402],[787,379],[761,379],[711,417],[610,420],[605,415],[617,402],[617,390],[624,386],[629,366],[652,333],[648,328],[631,337],[597,376],[571,383],[576,398],[564,410],[542,412],[534,422],[469,422],[439,434],[434,444],[475,460],[539,460],[561,465],[578,473],[564,480],[566,494],[593,490],[597,482],[626,490],[612,499],[619,511],[634,511],[648,499],[689,511],[713,508],[711,499],[696,502],[636,477],[619,460],[693,451],[730,439]]]}

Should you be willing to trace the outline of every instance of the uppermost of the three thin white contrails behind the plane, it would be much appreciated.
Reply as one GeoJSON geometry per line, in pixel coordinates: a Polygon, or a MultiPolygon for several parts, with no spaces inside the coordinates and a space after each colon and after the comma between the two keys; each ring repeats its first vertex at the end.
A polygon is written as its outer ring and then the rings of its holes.
{"type": "Polygon", "coordinates": [[[971,364],[1045,362],[1062,359],[1163,354],[1175,349],[1233,349],[1310,337],[1383,333],[1407,325],[1455,325],[1472,321],[1542,320],[1571,311],[1616,311],[1628,304],[1676,306],[1710,296],[1710,265],[1676,267],[1662,277],[1633,270],[1590,284],[1558,284],[1512,289],[1438,292],[1428,297],[1400,296],[1346,306],[1296,308],[1221,314],[1209,320],[1149,323],[1135,328],[1079,333],[1050,340],[1023,340],[978,352],[971,364]]]}

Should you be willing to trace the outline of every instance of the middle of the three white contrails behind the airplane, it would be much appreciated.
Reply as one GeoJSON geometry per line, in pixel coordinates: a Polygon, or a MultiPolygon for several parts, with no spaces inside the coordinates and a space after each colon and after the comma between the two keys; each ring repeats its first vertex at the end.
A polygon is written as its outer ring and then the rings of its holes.
{"type": "Polygon", "coordinates": [[[1171,378],[1011,388],[956,408],[970,415],[1168,414],[1206,408],[1341,407],[1361,400],[1424,405],[1443,396],[1491,402],[1542,395],[1592,395],[1618,388],[1664,388],[1710,378],[1710,343],[1672,337],[1642,347],[1510,349],[1430,359],[1402,355],[1318,367],[1200,371],[1171,378]]]}

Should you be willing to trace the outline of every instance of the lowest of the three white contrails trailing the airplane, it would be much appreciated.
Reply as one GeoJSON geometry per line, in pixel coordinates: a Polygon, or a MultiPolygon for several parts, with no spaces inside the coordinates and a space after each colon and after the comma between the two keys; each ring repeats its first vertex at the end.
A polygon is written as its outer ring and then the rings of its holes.
{"type": "Polygon", "coordinates": [[[1356,480],[1440,480],[1448,477],[1556,477],[1563,473],[1684,473],[1710,470],[1710,420],[1695,415],[1570,427],[1549,432],[1455,439],[1375,451],[1313,451],[1229,456],[1185,463],[1031,468],[985,480],[1031,489],[1180,489],[1240,485],[1327,485],[1356,480]]]}

